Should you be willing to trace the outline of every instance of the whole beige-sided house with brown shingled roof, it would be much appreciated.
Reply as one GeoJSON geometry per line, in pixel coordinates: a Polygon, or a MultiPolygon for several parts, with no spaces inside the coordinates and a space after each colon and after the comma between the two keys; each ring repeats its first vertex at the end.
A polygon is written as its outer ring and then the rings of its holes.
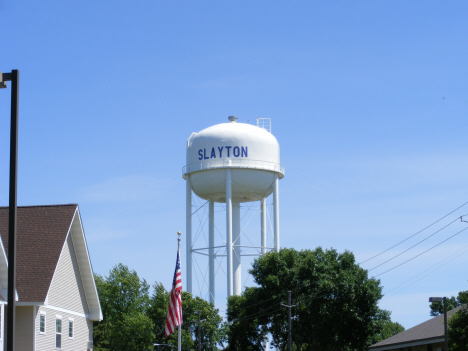
{"type": "MultiPolygon", "coordinates": [[[[0,288],[5,290],[8,211],[0,207],[0,288]]],[[[18,207],[16,240],[17,346],[47,351],[60,338],[62,350],[92,348],[92,321],[102,320],[102,312],[78,205],[18,207]]]]}

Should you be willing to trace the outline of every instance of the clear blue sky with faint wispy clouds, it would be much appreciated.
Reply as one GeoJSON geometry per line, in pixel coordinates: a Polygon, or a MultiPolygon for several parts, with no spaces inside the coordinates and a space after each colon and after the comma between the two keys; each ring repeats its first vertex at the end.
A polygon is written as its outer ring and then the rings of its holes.
{"type": "MultiPolygon", "coordinates": [[[[0,70],[20,70],[18,204],[78,203],[99,274],[122,262],[170,288],[186,140],[228,115],[272,119],[283,247],[347,249],[362,262],[468,201],[466,2],[0,0],[0,14],[0,70]]],[[[1,205],[10,91],[0,91],[1,205]]],[[[429,296],[468,289],[467,238],[378,277],[393,320],[409,328],[429,318],[429,296]]]]}

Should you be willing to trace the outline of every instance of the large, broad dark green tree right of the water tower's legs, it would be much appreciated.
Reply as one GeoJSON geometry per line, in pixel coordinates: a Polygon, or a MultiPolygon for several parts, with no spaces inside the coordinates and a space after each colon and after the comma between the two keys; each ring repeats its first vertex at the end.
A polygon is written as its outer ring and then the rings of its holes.
{"type": "Polygon", "coordinates": [[[267,332],[285,349],[287,309],[280,302],[287,303],[288,290],[298,303],[292,310],[300,321],[292,328],[295,350],[366,350],[388,319],[377,306],[380,282],[348,251],[282,249],[256,259],[250,274],[258,287],[228,300],[230,350],[261,350],[267,332]]]}

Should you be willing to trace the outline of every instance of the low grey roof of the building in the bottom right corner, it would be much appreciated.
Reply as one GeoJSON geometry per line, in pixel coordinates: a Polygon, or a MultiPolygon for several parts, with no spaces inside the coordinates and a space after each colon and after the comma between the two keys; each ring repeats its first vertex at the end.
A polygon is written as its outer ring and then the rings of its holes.
{"type": "MultiPolygon", "coordinates": [[[[457,312],[462,306],[447,312],[447,320],[457,312]]],[[[426,322],[418,324],[388,339],[382,340],[369,347],[369,350],[391,350],[401,347],[424,345],[444,340],[444,315],[431,318],[426,322]]]]}

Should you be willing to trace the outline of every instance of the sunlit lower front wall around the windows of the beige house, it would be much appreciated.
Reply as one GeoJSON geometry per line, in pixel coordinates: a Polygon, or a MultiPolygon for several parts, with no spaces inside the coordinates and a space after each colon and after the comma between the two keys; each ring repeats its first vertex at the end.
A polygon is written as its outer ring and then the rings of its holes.
{"type": "MultiPolygon", "coordinates": [[[[57,311],[48,307],[41,306],[34,320],[36,330],[36,351],[51,351],[55,348],[55,321],[57,318],[62,320],[62,351],[86,351],[88,347],[89,323],[84,316],[57,311]],[[41,313],[46,316],[46,331],[39,333],[39,322],[41,313]],[[73,338],[68,336],[68,322],[73,321],[73,338]]],[[[90,334],[91,333],[91,334],[90,334]]]]}

